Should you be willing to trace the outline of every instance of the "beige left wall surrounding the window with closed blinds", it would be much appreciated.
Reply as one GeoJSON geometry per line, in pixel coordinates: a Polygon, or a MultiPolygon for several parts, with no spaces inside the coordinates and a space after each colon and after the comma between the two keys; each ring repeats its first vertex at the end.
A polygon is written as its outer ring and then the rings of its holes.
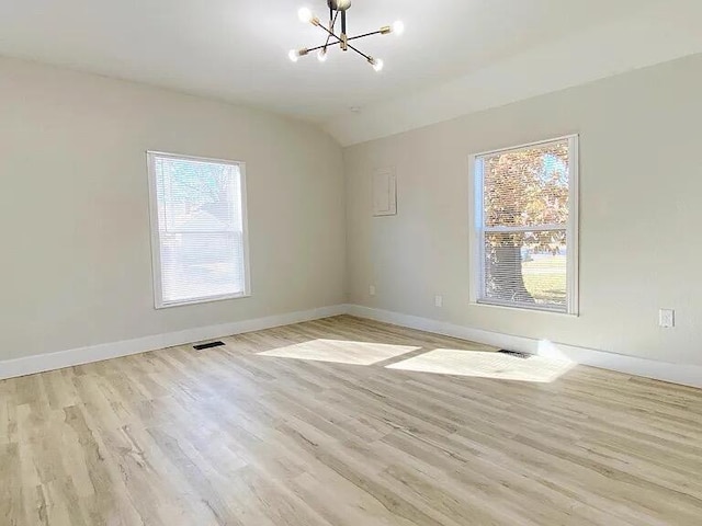
{"type": "Polygon", "coordinates": [[[312,126],[0,59],[0,361],[340,304],[343,209],[312,126]],[[147,149],[246,161],[251,298],[154,309],[147,149]]]}

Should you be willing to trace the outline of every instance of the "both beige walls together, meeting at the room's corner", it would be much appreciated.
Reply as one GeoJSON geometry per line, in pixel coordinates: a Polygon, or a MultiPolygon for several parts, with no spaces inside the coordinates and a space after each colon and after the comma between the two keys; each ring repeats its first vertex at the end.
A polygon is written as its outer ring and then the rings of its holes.
{"type": "Polygon", "coordinates": [[[353,304],[702,364],[702,281],[687,277],[702,261],[700,93],[694,56],[347,148],[342,162],[306,124],[0,59],[0,361],[337,305],[346,285],[353,304]],[[570,133],[581,316],[468,305],[468,155],[570,133]],[[147,149],[247,162],[251,298],[154,309],[147,149]],[[398,215],[373,218],[382,167],[397,169],[398,215]],[[657,327],[660,307],[677,328],[657,327]]]}

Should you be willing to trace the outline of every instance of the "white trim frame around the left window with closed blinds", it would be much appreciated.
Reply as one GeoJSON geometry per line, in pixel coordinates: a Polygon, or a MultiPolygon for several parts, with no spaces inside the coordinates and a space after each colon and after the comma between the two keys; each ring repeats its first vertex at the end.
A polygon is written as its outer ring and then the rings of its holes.
{"type": "Polygon", "coordinates": [[[151,273],[154,276],[154,307],[156,309],[168,309],[171,307],[182,307],[186,305],[208,304],[212,301],[223,301],[226,299],[248,298],[251,296],[251,276],[249,273],[249,226],[247,210],[246,192],[246,163],[244,161],[231,161],[227,159],[215,159],[210,157],[183,156],[180,153],[169,153],[165,151],[147,150],[146,152],[149,180],[149,218],[151,229],[151,273]],[[163,301],[163,284],[161,277],[161,249],[158,222],[158,199],[156,188],[156,170],[154,160],[156,157],[168,159],[184,159],[190,161],[216,162],[239,168],[241,178],[241,228],[244,238],[244,293],[226,294],[219,296],[206,296],[181,301],[163,301]]]}

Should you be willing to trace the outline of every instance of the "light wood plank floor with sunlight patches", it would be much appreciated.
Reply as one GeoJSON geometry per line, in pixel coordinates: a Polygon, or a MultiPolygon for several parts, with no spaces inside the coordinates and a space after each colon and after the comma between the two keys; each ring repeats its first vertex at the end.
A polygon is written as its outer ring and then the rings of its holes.
{"type": "Polygon", "coordinates": [[[702,524],[700,390],[350,317],[225,342],[0,382],[0,524],[702,524]]]}

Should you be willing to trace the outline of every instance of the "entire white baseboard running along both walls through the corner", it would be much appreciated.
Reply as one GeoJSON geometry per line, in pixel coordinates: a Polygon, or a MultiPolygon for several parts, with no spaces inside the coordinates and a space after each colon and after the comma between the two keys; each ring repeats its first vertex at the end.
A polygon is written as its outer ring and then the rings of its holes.
{"type": "Polygon", "coordinates": [[[152,336],[103,343],[88,347],[71,348],[50,354],[27,356],[0,362],[0,379],[32,375],[45,370],[61,369],[75,365],[101,362],[103,359],[139,354],[158,348],[184,345],[193,342],[224,338],[231,334],[259,331],[273,327],[288,325],[302,321],[317,320],[330,316],[352,315],[360,318],[383,321],[396,325],[433,332],[446,336],[460,338],[473,342],[494,345],[500,348],[520,351],[553,358],[566,358],[577,364],[619,370],[629,375],[643,376],[657,380],[702,388],[702,367],[698,365],[670,364],[654,359],[638,358],[623,354],[608,353],[593,348],[578,347],[561,343],[533,340],[523,336],[499,334],[496,332],[456,325],[429,318],[420,318],[388,310],[373,309],[360,305],[336,305],[318,309],[269,316],[253,320],[235,321],[219,325],[200,327],[184,331],[155,334],[152,336]]]}

